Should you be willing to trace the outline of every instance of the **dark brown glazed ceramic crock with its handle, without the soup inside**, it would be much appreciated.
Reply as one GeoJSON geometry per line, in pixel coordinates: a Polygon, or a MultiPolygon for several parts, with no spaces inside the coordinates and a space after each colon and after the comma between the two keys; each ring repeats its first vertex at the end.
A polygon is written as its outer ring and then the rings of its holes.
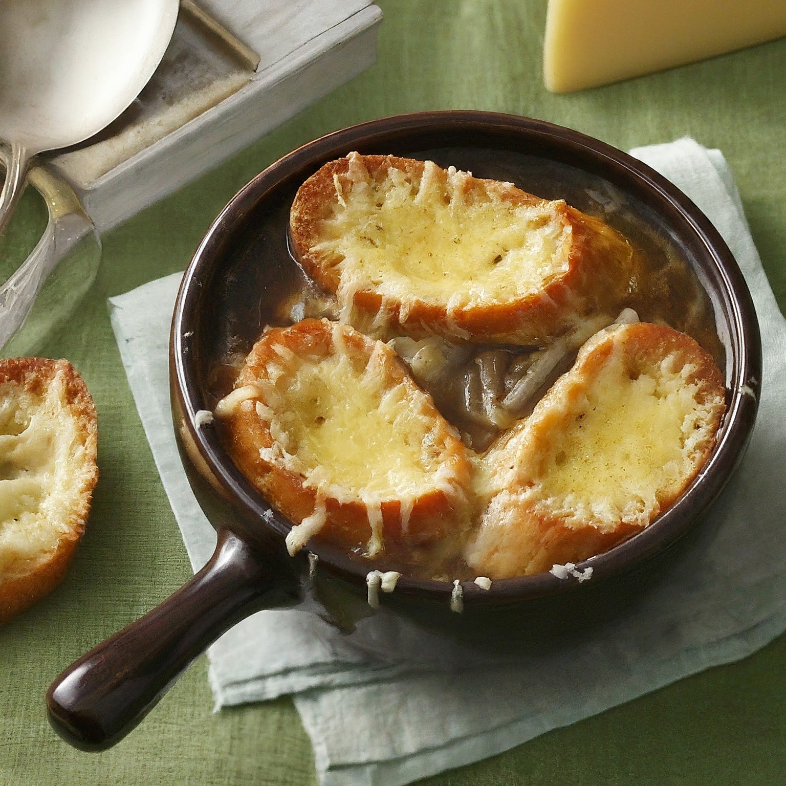
{"type": "MultiPolygon", "coordinates": [[[[679,293],[674,293],[679,296],[679,293]]],[[[452,667],[564,646],[571,635],[630,608],[667,581],[677,546],[740,461],[755,421],[761,346],[751,297],[729,248],[674,185],[645,164],[573,130],[489,112],[426,112],[375,120],[329,134],[268,167],[224,208],[185,271],[171,332],[174,432],[196,498],[219,531],[210,562],[137,623],[64,671],[47,696],[50,719],[76,747],[108,747],[144,717],[178,674],[223,631],[261,608],[310,604],[358,647],[380,657],[452,667]],[[369,563],[309,542],[285,549],[291,524],[237,470],[217,424],[197,420],[222,395],[221,369],[248,352],[302,272],[287,244],[299,185],[322,163],[358,151],[454,165],[564,198],[608,222],[646,252],[684,260],[706,292],[710,343],[725,374],[727,411],[707,465],[685,494],[640,534],[578,564],[590,581],[550,573],[464,582],[463,611],[451,582],[402,576],[367,602],[369,563]],[[609,210],[609,205],[613,210],[609,210]],[[197,426],[196,423],[200,422],[197,426]],[[309,555],[313,555],[309,558],[309,555]]],[[[705,525],[706,526],[706,525],[705,525]]]]}

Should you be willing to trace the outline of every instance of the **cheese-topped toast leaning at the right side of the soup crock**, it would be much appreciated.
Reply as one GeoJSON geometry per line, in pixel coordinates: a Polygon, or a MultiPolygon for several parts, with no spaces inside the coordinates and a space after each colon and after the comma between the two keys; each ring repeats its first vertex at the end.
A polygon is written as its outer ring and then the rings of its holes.
{"type": "Polygon", "coordinates": [[[484,457],[489,499],[466,560],[490,578],[601,553],[665,512],[704,465],[723,378],[689,336],[612,325],[484,457]]]}

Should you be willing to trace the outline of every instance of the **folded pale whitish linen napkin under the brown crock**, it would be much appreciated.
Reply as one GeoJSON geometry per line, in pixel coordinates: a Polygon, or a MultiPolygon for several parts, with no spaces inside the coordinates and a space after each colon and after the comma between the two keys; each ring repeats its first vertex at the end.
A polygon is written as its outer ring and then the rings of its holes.
{"type": "MultiPolygon", "coordinates": [[[[743,658],[786,630],[786,321],[722,153],[689,138],[635,149],[714,222],[751,288],[762,329],[758,425],[711,510],[713,526],[643,607],[575,648],[461,673],[380,664],[313,615],[259,612],[210,648],[216,708],[291,693],[325,786],[399,786],[497,754],[662,685],[743,658]]],[[[171,431],[169,321],[180,274],[112,298],[112,325],[156,464],[196,569],[215,533],[171,431]]]]}

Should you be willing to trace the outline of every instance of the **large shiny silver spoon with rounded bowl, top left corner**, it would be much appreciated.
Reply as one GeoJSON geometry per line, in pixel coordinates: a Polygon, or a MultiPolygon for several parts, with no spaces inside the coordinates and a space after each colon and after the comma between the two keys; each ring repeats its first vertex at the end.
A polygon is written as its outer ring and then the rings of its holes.
{"type": "Polygon", "coordinates": [[[0,142],[10,146],[0,233],[31,158],[116,119],[156,70],[177,16],[178,0],[0,2],[0,142]]]}

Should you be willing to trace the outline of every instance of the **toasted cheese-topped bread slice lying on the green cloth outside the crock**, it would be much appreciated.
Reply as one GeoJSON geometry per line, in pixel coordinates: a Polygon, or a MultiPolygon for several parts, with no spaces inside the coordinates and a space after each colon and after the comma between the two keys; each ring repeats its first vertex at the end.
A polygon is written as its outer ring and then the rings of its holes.
{"type": "Polygon", "coordinates": [[[98,477],[96,443],[93,400],[68,361],[0,361],[0,623],[64,577],[98,477]]]}

